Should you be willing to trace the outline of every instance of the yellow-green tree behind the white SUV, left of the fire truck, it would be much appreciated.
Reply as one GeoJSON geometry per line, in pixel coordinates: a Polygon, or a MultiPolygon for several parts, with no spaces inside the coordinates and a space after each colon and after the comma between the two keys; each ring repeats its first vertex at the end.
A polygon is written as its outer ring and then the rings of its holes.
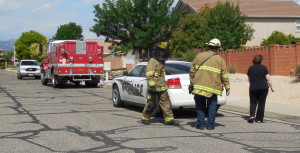
{"type": "Polygon", "coordinates": [[[22,35],[15,42],[15,51],[16,57],[19,60],[22,59],[34,59],[33,58],[34,50],[31,50],[30,46],[34,43],[40,44],[47,42],[47,39],[44,35],[31,30],[28,32],[23,32],[22,35]]]}

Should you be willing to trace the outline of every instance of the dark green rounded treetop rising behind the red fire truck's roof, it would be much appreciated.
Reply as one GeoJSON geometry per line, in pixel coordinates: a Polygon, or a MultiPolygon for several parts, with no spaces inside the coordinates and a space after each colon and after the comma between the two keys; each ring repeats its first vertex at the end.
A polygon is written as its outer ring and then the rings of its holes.
{"type": "Polygon", "coordinates": [[[82,27],[74,22],[61,25],[57,28],[54,40],[78,40],[82,39],[82,27]]]}

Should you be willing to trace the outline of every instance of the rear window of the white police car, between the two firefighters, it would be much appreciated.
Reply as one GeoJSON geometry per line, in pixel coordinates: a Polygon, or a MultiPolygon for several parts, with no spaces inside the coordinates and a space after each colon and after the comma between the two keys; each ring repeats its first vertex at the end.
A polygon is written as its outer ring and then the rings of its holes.
{"type": "Polygon", "coordinates": [[[190,73],[191,63],[184,62],[184,63],[166,63],[166,71],[167,75],[172,74],[188,74],[190,73]]]}

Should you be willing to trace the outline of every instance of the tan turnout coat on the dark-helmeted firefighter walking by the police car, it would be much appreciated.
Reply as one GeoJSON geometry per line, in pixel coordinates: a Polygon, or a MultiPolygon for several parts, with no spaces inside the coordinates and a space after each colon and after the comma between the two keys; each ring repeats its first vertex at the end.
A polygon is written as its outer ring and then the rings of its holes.
{"type": "Polygon", "coordinates": [[[147,64],[146,79],[148,81],[148,89],[155,86],[156,91],[166,91],[169,86],[165,81],[166,68],[158,60],[151,58],[147,64]]]}

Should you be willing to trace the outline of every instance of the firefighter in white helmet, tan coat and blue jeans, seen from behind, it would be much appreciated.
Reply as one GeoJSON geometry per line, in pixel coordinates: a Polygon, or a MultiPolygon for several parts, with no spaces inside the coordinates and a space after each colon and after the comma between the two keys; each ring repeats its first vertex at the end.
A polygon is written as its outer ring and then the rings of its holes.
{"type": "Polygon", "coordinates": [[[227,96],[230,84],[224,59],[216,52],[221,47],[218,39],[207,43],[208,51],[199,53],[193,60],[190,69],[190,93],[194,94],[197,110],[197,129],[208,130],[215,128],[215,114],[218,109],[217,95],[222,95],[223,87],[227,96]],[[207,124],[205,110],[208,109],[207,124]]]}

